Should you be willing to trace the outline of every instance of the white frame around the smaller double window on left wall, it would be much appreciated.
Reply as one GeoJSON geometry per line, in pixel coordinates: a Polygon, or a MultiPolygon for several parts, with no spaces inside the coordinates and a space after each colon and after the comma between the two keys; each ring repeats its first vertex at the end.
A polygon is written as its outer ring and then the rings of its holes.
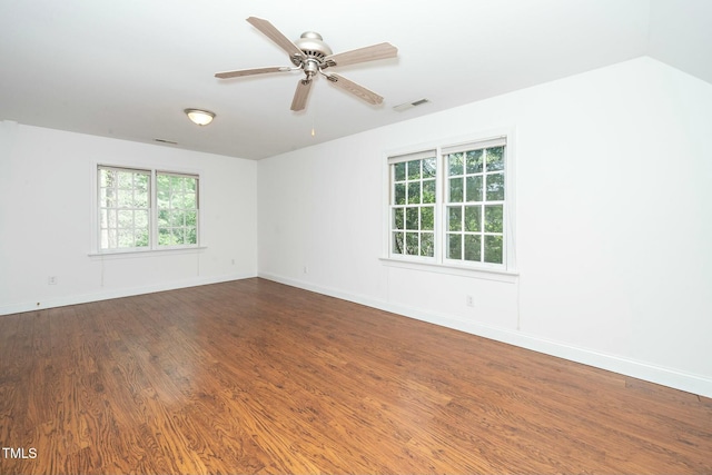
{"type": "Polygon", "coordinates": [[[202,250],[205,249],[205,244],[201,238],[201,229],[202,229],[202,174],[200,170],[189,170],[181,168],[170,168],[166,169],[164,167],[147,167],[141,165],[127,165],[127,164],[106,164],[96,161],[92,164],[91,168],[91,250],[89,256],[117,256],[121,257],[125,255],[151,255],[155,253],[166,253],[166,251],[194,251],[194,250],[202,250]],[[125,248],[116,248],[116,249],[102,249],[101,248],[101,224],[100,224],[100,204],[99,204],[99,192],[100,192],[100,181],[99,181],[99,172],[101,168],[108,169],[117,169],[117,170],[127,170],[127,171],[140,171],[147,172],[150,175],[149,179],[149,246],[145,247],[125,247],[125,248]],[[159,246],[158,245],[158,198],[157,198],[157,175],[172,175],[172,176],[181,176],[181,177],[191,177],[197,179],[197,243],[189,245],[177,245],[177,246],[159,246]]]}

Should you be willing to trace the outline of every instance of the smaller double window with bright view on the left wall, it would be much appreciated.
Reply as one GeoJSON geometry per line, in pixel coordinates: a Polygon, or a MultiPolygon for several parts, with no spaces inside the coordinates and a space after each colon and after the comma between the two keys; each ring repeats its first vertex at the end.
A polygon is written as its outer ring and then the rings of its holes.
{"type": "Polygon", "coordinates": [[[196,175],[99,166],[99,251],[198,245],[196,175]]]}

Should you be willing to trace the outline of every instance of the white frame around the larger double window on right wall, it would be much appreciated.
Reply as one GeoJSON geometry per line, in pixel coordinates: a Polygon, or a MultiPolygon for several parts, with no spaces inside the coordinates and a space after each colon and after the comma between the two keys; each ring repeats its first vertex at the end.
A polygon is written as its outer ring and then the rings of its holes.
{"type": "Polygon", "coordinates": [[[383,249],[380,260],[387,266],[411,268],[427,271],[438,271],[455,275],[481,276],[483,278],[508,279],[518,275],[516,269],[515,224],[516,224],[516,133],[514,128],[488,130],[471,136],[444,138],[414,145],[399,149],[387,150],[384,154],[384,198],[383,198],[383,249]],[[504,199],[504,237],[503,263],[490,264],[466,261],[447,258],[447,169],[444,155],[455,150],[466,150],[468,146],[479,147],[486,144],[505,141],[505,199],[504,199]],[[409,256],[392,253],[392,164],[406,160],[408,157],[422,157],[424,152],[435,150],[437,158],[436,206],[435,206],[435,253],[433,257],[409,256]]]}

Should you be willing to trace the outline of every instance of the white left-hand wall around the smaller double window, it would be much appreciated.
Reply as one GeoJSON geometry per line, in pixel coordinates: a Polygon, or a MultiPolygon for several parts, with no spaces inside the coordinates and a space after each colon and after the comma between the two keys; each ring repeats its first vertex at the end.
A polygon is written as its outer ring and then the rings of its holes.
{"type": "Polygon", "coordinates": [[[0,122],[0,315],[257,274],[256,162],[0,122]],[[199,251],[90,257],[97,162],[200,172],[199,251]],[[57,285],[48,285],[56,276],[57,285]]]}

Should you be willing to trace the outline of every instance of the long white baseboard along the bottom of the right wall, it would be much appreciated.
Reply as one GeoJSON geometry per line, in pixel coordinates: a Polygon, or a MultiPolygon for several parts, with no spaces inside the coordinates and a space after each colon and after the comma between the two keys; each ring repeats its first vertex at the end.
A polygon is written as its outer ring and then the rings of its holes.
{"type": "Polygon", "coordinates": [[[613,373],[619,373],[625,376],[647,380],[688,393],[698,394],[700,396],[712,397],[712,378],[710,377],[665,368],[645,362],[622,358],[615,355],[609,355],[587,348],[580,348],[561,342],[547,340],[533,335],[527,335],[522,331],[515,331],[506,328],[498,328],[472,321],[463,321],[454,317],[436,315],[433,313],[419,310],[417,308],[395,305],[367,296],[349,294],[338,289],[316,286],[309,283],[286,278],[274,274],[259,273],[258,277],[274,280],[291,287],[298,287],[305,290],[328,295],[330,297],[340,298],[343,300],[353,301],[368,307],[378,308],[380,310],[390,311],[431,324],[457,329],[461,331],[469,333],[472,335],[482,336],[546,355],[556,356],[589,366],[594,366],[596,368],[606,369],[613,373]]]}

